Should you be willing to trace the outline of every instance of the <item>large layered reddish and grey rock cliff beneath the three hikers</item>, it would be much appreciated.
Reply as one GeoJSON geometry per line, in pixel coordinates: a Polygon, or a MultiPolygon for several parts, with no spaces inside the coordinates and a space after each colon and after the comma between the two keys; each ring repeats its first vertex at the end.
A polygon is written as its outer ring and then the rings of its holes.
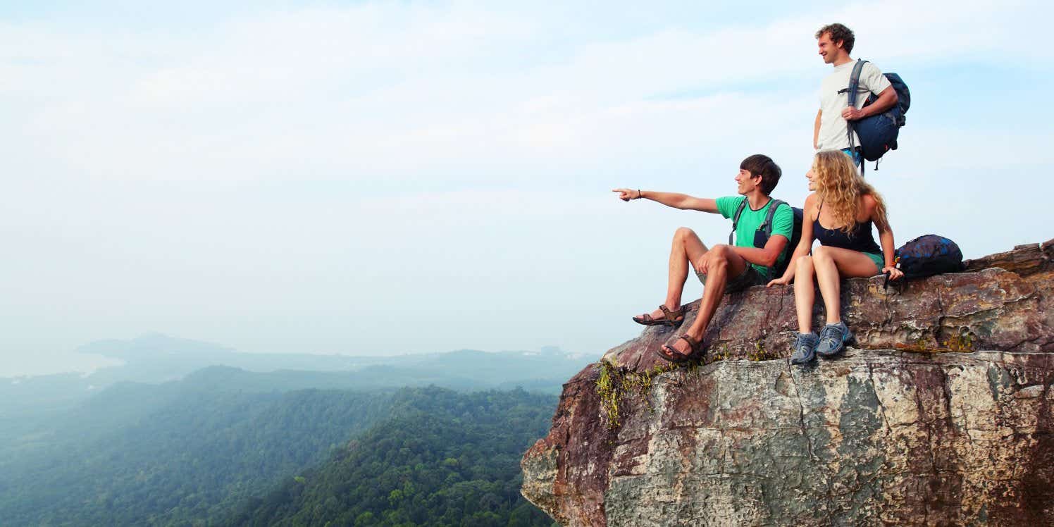
{"type": "Polygon", "coordinates": [[[565,385],[523,493],[564,525],[1054,525],[1052,246],[847,280],[857,345],[805,367],[790,288],[725,296],[705,365],[648,328],[565,385]]]}

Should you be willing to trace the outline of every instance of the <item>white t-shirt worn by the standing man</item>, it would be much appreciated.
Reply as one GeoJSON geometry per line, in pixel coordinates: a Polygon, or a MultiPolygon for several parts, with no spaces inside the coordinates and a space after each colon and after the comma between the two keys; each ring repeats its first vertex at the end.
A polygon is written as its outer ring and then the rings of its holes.
{"type": "MultiPolygon", "coordinates": [[[[818,150],[841,150],[850,148],[848,126],[842,117],[842,110],[850,105],[850,94],[847,92],[838,93],[850,86],[850,76],[853,75],[853,66],[857,61],[853,60],[835,66],[835,71],[823,79],[820,84],[820,135],[817,138],[818,150]]],[[[890,87],[890,79],[886,79],[882,72],[871,62],[864,62],[860,70],[860,85],[857,89],[856,108],[863,108],[867,100],[867,94],[876,96],[883,90],[890,87]]],[[[860,145],[860,138],[853,134],[856,144],[860,145]]]]}

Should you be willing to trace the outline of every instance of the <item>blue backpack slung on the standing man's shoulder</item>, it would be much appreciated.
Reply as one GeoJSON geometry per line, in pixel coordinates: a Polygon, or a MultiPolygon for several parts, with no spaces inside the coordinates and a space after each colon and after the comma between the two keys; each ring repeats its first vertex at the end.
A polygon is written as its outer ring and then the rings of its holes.
{"type": "MultiPolygon", "coordinates": [[[[860,71],[863,70],[864,62],[867,61],[858,60],[853,66],[853,74],[850,75],[847,91],[851,106],[856,106],[857,90],[860,86],[860,71]]],[[[886,152],[897,150],[897,136],[900,134],[900,126],[904,125],[904,114],[912,105],[912,94],[907,91],[907,84],[904,83],[903,79],[895,73],[885,74],[885,78],[890,80],[890,83],[893,84],[893,91],[897,93],[897,103],[881,114],[848,121],[850,148],[856,147],[853,140],[853,132],[856,131],[857,137],[860,138],[861,154],[868,161],[878,161],[886,152]]],[[[867,106],[877,99],[875,94],[870,94],[863,105],[867,106]]],[[[860,167],[863,168],[863,161],[860,161],[860,167]]],[[[877,162],[875,170],[878,170],[877,162]]]]}

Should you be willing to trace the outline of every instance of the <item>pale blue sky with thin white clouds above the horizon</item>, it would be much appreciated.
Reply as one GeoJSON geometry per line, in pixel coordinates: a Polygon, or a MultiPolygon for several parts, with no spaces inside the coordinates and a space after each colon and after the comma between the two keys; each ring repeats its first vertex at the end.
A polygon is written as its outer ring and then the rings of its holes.
{"type": "Polygon", "coordinates": [[[1054,237],[1048,3],[534,4],[0,1],[0,376],[148,332],[599,357],[678,227],[730,228],[610,190],[734,195],[764,153],[800,204],[836,21],[911,89],[867,168],[898,245],[1054,237]]]}

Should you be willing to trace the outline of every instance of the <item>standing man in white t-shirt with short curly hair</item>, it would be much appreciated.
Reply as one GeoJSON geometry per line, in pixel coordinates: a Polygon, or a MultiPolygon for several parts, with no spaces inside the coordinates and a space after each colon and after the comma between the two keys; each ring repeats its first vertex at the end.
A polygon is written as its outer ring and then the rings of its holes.
{"type": "Polygon", "coordinates": [[[860,71],[856,106],[850,106],[850,76],[856,60],[850,57],[856,38],[853,31],[842,24],[829,24],[816,32],[817,44],[823,62],[835,66],[835,71],[820,84],[820,111],[816,114],[813,130],[813,148],[816,150],[840,150],[853,158],[857,164],[863,163],[860,155],[860,138],[853,133],[856,151],[850,151],[848,122],[881,114],[897,103],[897,92],[890,80],[872,62],[865,62],[860,71]],[[866,108],[863,103],[867,94],[875,94],[878,100],[866,108]]]}

